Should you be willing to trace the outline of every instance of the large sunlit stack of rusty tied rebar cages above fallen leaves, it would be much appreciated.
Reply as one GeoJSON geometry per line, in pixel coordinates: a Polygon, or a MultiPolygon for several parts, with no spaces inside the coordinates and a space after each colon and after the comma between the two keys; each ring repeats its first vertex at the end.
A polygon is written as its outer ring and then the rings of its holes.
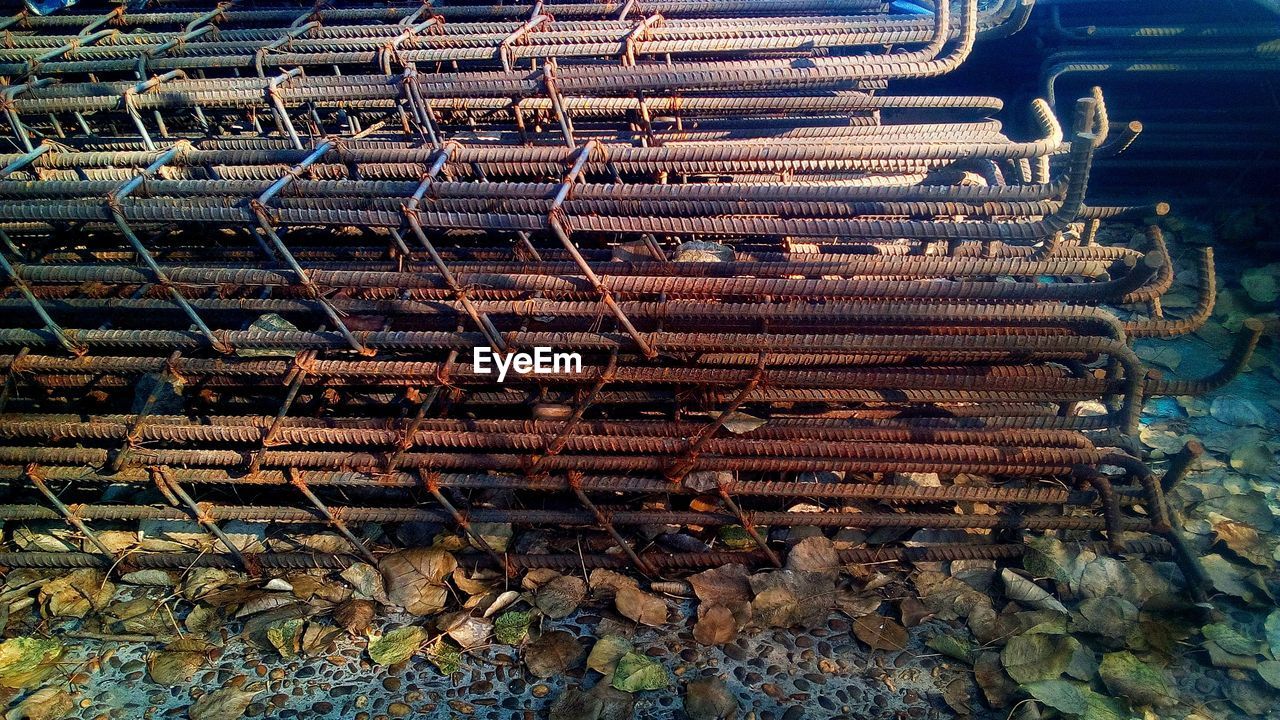
{"type": "Polygon", "coordinates": [[[1028,140],[997,99],[886,92],[1030,3],[928,10],[0,22],[0,519],[70,523],[86,551],[0,564],[113,562],[129,548],[93,528],[137,520],[200,523],[248,565],[221,521],[328,524],[366,556],[356,524],[457,525],[512,568],[563,557],[504,555],[474,524],[573,527],[575,566],[646,571],[726,561],[646,550],[726,525],[754,562],[778,560],[768,528],[801,525],[1176,544],[1130,454],[1143,398],[1225,383],[1257,328],[1210,378],[1143,366],[1132,338],[1210,314],[1211,252],[1172,319],[1158,231],[1096,242],[1106,218],[1164,210],[1085,204],[1094,155],[1124,141],[1096,91],[1062,120],[1037,101],[1028,140]],[[538,348],[564,361],[486,372],[538,348]]]}

